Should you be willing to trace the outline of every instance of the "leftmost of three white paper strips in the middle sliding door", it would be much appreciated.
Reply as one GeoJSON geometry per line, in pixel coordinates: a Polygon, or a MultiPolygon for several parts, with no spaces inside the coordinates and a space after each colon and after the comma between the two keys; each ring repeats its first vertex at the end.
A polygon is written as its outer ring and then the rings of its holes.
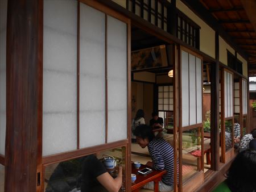
{"type": "Polygon", "coordinates": [[[181,51],[182,126],[189,126],[188,53],[181,51]]]}

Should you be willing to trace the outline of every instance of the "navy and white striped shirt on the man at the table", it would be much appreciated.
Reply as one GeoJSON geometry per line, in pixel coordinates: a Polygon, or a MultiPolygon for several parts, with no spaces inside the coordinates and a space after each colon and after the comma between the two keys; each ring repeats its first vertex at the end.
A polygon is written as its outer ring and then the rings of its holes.
{"type": "Polygon", "coordinates": [[[166,185],[174,185],[174,148],[162,137],[150,141],[147,148],[153,161],[153,168],[167,171],[162,181],[166,185]]]}

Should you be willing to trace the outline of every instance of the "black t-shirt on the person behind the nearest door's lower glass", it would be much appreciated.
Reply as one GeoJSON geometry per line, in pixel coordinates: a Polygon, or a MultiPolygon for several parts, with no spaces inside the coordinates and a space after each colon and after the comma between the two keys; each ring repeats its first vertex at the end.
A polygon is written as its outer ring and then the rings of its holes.
{"type": "Polygon", "coordinates": [[[95,155],[86,156],[82,164],[81,192],[107,191],[97,180],[106,172],[104,164],[95,155]]]}

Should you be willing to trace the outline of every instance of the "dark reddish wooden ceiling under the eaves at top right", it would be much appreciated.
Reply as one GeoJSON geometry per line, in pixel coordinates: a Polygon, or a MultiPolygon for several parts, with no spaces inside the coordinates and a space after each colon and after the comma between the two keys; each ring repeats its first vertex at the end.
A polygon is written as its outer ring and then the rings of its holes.
{"type": "Polygon", "coordinates": [[[256,1],[200,0],[234,42],[247,53],[249,76],[256,76],[256,1]]]}

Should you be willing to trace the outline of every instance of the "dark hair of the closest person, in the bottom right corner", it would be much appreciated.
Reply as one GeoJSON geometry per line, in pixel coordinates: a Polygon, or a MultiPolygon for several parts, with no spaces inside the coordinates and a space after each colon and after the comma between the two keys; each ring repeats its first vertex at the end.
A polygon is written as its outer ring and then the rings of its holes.
{"type": "Polygon", "coordinates": [[[256,190],[256,151],[245,150],[238,153],[226,176],[226,182],[231,191],[256,190]]]}

